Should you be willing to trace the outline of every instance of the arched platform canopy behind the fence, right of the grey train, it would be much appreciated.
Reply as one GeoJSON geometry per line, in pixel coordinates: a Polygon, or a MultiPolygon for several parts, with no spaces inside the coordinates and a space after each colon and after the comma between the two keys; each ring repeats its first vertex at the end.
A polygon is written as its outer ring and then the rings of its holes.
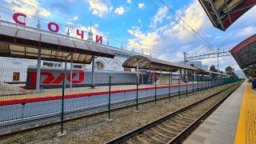
{"type": "Polygon", "coordinates": [[[184,69],[190,71],[198,71],[197,68],[194,68],[192,66],[184,66],[182,64],[167,62],[156,58],[150,58],[141,55],[135,55],[126,59],[126,61],[123,62],[122,66],[127,68],[136,68],[137,63],[140,69],[146,70],[162,70],[175,72],[179,69],[184,69]]]}

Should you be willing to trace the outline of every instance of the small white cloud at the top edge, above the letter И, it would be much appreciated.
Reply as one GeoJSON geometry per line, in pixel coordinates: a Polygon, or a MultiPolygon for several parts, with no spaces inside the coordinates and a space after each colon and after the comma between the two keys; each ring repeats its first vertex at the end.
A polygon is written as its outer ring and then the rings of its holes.
{"type": "Polygon", "coordinates": [[[86,0],[86,2],[89,3],[92,14],[98,15],[99,17],[113,10],[112,6],[108,6],[102,0],[86,0]]]}

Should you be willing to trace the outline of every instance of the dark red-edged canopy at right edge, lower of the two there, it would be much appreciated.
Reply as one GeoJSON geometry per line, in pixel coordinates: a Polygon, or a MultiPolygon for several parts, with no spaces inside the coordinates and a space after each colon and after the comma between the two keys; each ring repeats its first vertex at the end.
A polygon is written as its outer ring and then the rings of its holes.
{"type": "Polygon", "coordinates": [[[230,53],[241,69],[256,64],[256,34],[234,46],[230,53]]]}

